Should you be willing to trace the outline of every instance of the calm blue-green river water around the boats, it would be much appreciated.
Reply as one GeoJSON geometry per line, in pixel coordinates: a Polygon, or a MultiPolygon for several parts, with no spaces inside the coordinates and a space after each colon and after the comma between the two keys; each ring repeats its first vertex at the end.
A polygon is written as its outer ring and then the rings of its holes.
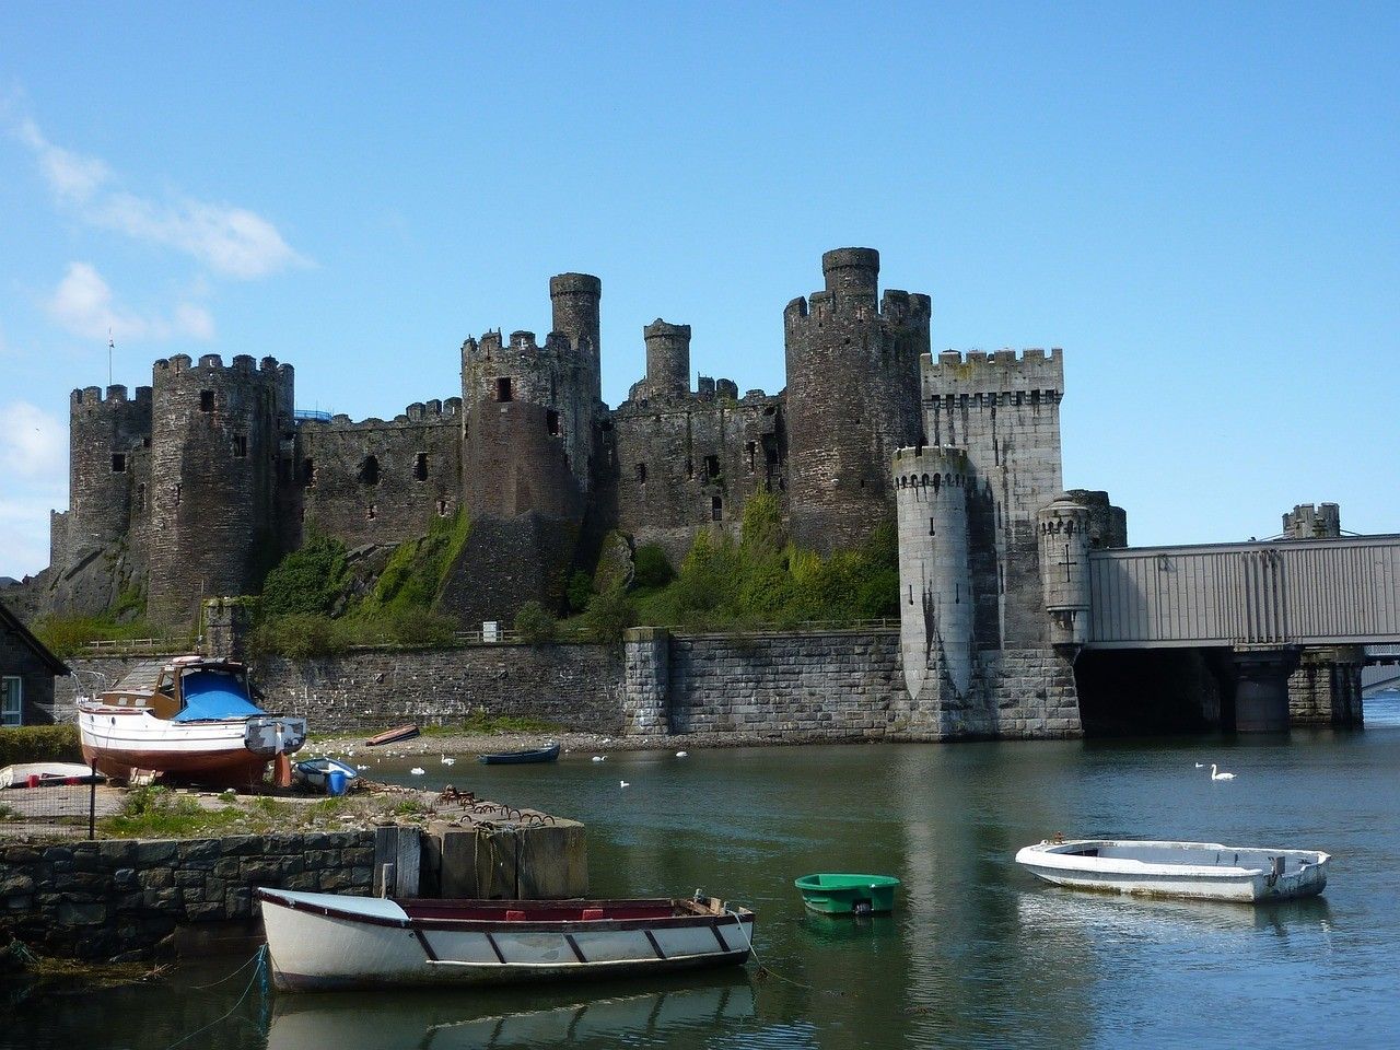
{"type": "Polygon", "coordinates": [[[696,888],[757,911],[750,963],[643,983],[276,995],[238,959],[175,981],[10,995],[29,1047],[1397,1046],[1400,694],[1365,732],[1291,739],[1016,742],[417,759],[372,776],[473,788],[588,825],[598,896],[696,888]],[[1210,763],[1238,774],[1212,783],[1210,763]],[[1204,763],[1205,769],[1197,769],[1204,763]],[[629,787],[620,787],[622,780],[629,787]],[[1068,837],[1322,848],[1324,897],[1151,903],[1037,883],[1015,851],[1068,837]],[[792,879],[893,874],[893,916],[804,913],[792,879]],[[220,1015],[230,1016],[217,1021],[220,1015]]]}

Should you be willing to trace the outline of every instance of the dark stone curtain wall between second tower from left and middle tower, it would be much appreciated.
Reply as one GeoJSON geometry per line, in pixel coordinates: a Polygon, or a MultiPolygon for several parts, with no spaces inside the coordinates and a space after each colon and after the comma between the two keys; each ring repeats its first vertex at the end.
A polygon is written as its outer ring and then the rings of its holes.
{"type": "Polygon", "coordinates": [[[392,421],[302,420],[290,486],[302,532],[347,547],[400,543],[456,512],[462,497],[462,402],[414,403],[392,421]]]}

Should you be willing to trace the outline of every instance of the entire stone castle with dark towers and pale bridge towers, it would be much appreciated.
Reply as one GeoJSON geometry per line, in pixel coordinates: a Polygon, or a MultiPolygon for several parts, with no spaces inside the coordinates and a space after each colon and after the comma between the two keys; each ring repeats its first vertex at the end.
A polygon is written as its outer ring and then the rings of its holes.
{"type": "MultiPolygon", "coordinates": [[[[897,519],[904,687],[885,704],[910,735],[1072,736],[1086,690],[1231,676],[1184,650],[1135,669],[1102,654],[1077,676],[1089,552],[1126,547],[1127,524],[1106,493],[1063,490],[1060,350],[932,356],[928,295],[881,294],[875,251],[827,252],[822,272],[784,309],[778,393],[693,386],[690,326],[657,319],[645,377],[609,409],[602,281],[581,273],[550,279],[543,340],[466,339],[461,396],[391,420],[298,413],[293,367],[270,357],[175,356],[134,396],[74,391],[70,510],[29,594],[98,612],[134,588],[151,620],[189,623],[202,598],[256,594],[312,532],[393,545],[465,510],[438,605],[510,622],[526,601],[559,608],[610,531],[678,561],[771,493],[792,539],[823,553],[897,519]]],[[[1289,528],[1338,535],[1334,507],[1309,510],[1289,528]]],[[[1327,682],[1322,721],[1359,720],[1358,665],[1331,652],[1310,672],[1315,700],[1327,682]]]]}

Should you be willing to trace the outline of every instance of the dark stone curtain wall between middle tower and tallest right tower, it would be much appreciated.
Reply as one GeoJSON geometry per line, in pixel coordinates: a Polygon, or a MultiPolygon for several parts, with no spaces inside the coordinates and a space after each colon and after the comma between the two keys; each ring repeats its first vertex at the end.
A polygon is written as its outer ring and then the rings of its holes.
{"type": "Polygon", "coordinates": [[[781,396],[627,402],[612,421],[619,528],[659,543],[673,564],[697,529],[736,529],[753,493],[773,493],[787,507],[781,396]]]}

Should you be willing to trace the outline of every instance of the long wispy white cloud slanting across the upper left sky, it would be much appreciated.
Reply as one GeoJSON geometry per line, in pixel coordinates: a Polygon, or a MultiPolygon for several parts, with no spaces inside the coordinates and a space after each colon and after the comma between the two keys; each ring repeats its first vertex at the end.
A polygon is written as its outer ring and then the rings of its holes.
{"type": "Polygon", "coordinates": [[[106,164],[55,146],[32,120],[20,123],[18,136],[34,151],[59,203],[91,225],[175,248],[241,280],[307,265],[276,225],[248,209],[188,197],[157,202],[113,189],[106,164]]]}

